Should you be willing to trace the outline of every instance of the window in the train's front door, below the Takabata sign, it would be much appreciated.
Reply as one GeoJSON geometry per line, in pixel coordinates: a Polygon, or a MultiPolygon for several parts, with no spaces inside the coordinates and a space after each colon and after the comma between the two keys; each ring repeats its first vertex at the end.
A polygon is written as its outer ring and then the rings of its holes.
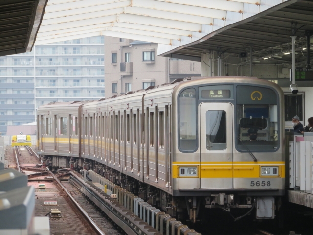
{"type": "Polygon", "coordinates": [[[206,148],[207,150],[226,149],[226,112],[224,110],[206,112],[206,148]]]}

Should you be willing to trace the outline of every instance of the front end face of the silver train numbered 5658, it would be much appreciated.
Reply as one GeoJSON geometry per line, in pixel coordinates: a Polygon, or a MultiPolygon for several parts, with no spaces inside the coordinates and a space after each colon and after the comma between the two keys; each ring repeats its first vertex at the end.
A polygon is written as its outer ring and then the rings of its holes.
{"type": "Polygon", "coordinates": [[[192,221],[204,207],[273,219],[285,189],[281,88],[256,78],[194,78],[172,97],[176,211],[186,207],[192,221]]]}

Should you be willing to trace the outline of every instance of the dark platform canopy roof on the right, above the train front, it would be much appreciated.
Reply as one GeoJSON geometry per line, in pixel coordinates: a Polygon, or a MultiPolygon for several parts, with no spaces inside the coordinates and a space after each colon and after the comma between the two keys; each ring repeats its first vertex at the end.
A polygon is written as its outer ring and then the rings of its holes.
{"type": "MultiPolygon", "coordinates": [[[[201,55],[209,51],[249,54],[252,47],[255,59],[291,63],[291,36],[296,36],[296,65],[303,66],[307,62],[307,35],[311,37],[312,45],[313,0],[286,1],[250,18],[219,28],[194,42],[171,48],[161,46],[158,54],[200,61],[201,55]]],[[[311,58],[312,53],[311,48],[311,58]]]]}

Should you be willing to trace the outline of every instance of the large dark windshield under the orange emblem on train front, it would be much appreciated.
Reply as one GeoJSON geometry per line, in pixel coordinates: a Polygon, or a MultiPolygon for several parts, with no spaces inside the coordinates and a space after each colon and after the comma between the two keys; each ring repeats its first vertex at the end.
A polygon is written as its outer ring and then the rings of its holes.
{"type": "Polygon", "coordinates": [[[278,148],[277,95],[273,90],[237,86],[236,113],[238,150],[275,151],[278,148]],[[238,97],[238,92],[248,97],[238,97]]]}

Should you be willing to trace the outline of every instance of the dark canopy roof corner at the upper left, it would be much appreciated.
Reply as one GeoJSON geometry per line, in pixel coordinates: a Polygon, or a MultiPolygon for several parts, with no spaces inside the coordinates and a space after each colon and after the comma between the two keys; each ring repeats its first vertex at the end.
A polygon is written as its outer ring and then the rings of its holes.
{"type": "Polygon", "coordinates": [[[48,0],[0,0],[0,56],[31,51],[48,0]]]}

